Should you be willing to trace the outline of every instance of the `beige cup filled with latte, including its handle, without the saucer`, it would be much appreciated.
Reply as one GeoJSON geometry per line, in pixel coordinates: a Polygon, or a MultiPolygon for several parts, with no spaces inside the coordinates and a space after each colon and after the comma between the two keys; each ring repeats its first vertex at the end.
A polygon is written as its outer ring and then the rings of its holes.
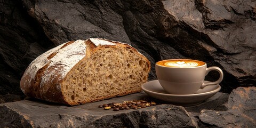
{"type": "Polygon", "coordinates": [[[219,67],[209,67],[203,61],[191,59],[170,59],[156,62],[156,75],[159,83],[170,94],[194,94],[208,85],[217,85],[223,79],[219,67]],[[219,72],[215,82],[204,82],[205,76],[211,70],[219,72]]]}

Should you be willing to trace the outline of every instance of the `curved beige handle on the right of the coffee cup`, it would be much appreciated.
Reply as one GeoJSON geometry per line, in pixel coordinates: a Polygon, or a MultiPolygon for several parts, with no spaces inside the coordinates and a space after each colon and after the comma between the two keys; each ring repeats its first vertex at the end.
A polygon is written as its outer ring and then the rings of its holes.
{"type": "Polygon", "coordinates": [[[213,66],[213,67],[209,67],[209,68],[206,68],[206,73],[205,73],[205,76],[211,71],[211,70],[216,70],[219,72],[220,74],[220,77],[217,81],[215,82],[210,82],[210,83],[204,83],[202,84],[202,86],[200,87],[200,89],[204,89],[205,86],[208,86],[208,85],[216,85],[216,84],[219,84],[222,79],[223,79],[223,72],[222,70],[219,68],[219,67],[216,67],[216,66],[213,66]]]}

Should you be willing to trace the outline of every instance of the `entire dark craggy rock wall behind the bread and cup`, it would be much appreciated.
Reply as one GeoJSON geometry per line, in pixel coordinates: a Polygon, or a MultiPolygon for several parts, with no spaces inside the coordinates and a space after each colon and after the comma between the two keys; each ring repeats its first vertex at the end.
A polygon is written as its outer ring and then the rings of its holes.
{"type": "MultiPolygon", "coordinates": [[[[23,72],[71,40],[129,43],[151,61],[190,58],[225,73],[221,92],[256,85],[256,1],[0,0],[0,103],[24,98],[23,72]]],[[[207,80],[218,78],[211,73],[207,80]]]]}

